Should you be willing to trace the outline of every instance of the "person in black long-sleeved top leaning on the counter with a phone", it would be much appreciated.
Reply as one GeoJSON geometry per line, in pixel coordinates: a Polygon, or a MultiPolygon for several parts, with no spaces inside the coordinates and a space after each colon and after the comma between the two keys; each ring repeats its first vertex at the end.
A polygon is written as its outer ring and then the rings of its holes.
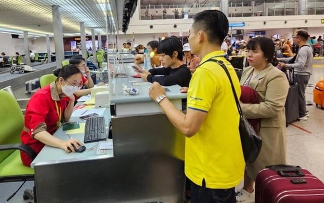
{"type": "Polygon", "coordinates": [[[158,44],[157,53],[161,65],[164,67],[146,71],[137,66],[137,72],[147,82],[158,82],[163,86],[180,85],[188,87],[191,73],[187,65],[182,63],[182,44],[180,40],[171,36],[158,44]]]}

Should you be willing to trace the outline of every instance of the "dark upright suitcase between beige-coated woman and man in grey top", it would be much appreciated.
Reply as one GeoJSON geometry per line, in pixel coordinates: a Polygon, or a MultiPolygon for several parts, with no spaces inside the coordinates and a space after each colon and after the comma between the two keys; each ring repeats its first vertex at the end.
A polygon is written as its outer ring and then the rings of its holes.
{"type": "Polygon", "coordinates": [[[299,119],[299,102],[298,102],[298,86],[294,81],[294,70],[288,70],[289,90],[285,103],[286,110],[286,127],[289,123],[299,119]]]}

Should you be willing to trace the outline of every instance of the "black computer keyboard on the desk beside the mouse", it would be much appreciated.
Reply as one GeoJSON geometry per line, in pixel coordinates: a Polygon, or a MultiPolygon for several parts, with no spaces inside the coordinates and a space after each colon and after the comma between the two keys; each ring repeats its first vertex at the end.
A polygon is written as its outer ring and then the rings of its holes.
{"type": "Polygon", "coordinates": [[[104,117],[89,118],[86,121],[84,143],[106,140],[106,125],[104,117]]]}

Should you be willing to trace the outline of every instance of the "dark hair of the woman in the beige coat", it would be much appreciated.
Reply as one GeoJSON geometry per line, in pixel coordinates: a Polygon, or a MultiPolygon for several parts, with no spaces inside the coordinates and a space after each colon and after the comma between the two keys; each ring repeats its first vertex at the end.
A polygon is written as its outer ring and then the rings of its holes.
{"type": "Polygon", "coordinates": [[[247,49],[256,50],[258,46],[268,62],[272,63],[273,66],[277,66],[278,60],[274,57],[274,44],[272,40],[265,37],[253,38],[248,42],[247,49]]]}

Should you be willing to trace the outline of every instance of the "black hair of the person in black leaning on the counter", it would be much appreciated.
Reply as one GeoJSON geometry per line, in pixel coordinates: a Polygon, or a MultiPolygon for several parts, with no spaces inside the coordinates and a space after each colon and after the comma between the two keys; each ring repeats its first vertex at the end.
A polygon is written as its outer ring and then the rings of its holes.
{"type": "Polygon", "coordinates": [[[176,36],[171,36],[170,38],[166,38],[162,40],[157,46],[158,54],[167,54],[171,58],[173,58],[173,52],[177,51],[177,58],[182,61],[182,44],[176,36]]]}

